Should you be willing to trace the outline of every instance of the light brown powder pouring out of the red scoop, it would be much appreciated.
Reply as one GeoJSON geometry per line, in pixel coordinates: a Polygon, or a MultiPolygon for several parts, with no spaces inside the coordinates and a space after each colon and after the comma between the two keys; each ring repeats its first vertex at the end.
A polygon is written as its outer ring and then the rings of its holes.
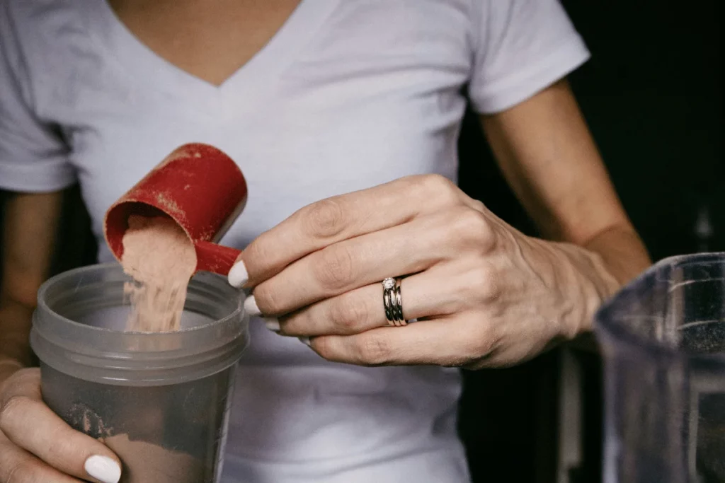
{"type": "Polygon", "coordinates": [[[128,218],[123,235],[123,271],[130,298],[128,329],[168,332],[181,326],[186,287],[196,269],[194,244],[168,217],[128,218]]]}

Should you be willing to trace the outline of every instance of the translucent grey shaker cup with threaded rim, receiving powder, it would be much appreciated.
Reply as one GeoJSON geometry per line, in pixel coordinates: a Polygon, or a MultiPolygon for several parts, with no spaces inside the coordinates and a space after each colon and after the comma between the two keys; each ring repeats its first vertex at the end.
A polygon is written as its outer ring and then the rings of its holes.
{"type": "Polygon", "coordinates": [[[30,333],[43,399],[119,455],[122,482],[217,482],[236,363],[249,340],[241,293],[200,272],[181,330],[127,332],[128,280],[120,265],[105,264],[43,284],[30,333]]]}

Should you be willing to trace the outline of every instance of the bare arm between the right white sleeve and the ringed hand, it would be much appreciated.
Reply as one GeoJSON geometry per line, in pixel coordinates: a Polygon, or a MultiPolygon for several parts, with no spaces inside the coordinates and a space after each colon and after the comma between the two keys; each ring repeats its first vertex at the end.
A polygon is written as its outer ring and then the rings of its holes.
{"type": "MultiPolygon", "coordinates": [[[[482,117],[506,179],[550,242],[555,282],[573,333],[586,332],[597,308],[650,264],[566,82],[493,116],[482,117]]],[[[570,334],[572,332],[569,332],[570,334]]]]}

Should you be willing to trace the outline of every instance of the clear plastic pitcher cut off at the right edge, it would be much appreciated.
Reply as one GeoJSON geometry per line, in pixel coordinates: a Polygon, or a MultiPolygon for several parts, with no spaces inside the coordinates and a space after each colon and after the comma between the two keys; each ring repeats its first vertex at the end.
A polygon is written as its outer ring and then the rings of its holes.
{"type": "Polygon", "coordinates": [[[660,261],[595,330],[605,483],[725,482],[725,253],[660,261]]]}

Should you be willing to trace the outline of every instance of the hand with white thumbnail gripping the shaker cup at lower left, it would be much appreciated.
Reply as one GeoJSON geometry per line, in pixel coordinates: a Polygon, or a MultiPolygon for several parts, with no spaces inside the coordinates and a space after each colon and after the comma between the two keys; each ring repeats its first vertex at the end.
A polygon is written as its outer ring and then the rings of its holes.
{"type": "Polygon", "coordinates": [[[106,445],[43,403],[40,369],[0,382],[0,483],[117,483],[120,476],[120,461],[106,445]]]}

